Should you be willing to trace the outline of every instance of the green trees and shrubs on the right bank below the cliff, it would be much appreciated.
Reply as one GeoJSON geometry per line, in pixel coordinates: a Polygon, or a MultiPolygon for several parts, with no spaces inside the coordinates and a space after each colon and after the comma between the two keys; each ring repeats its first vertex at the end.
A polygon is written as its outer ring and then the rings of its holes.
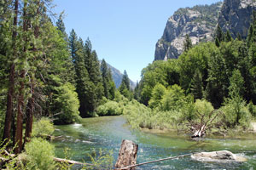
{"type": "Polygon", "coordinates": [[[247,39],[233,39],[218,26],[215,42],[184,47],[178,59],[149,64],[135,91],[143,105],[126,107],[128,122],[185,132],[206,124],[207,133],[250,129],[256,116],[255,30],[253,13],[247,39]]]}

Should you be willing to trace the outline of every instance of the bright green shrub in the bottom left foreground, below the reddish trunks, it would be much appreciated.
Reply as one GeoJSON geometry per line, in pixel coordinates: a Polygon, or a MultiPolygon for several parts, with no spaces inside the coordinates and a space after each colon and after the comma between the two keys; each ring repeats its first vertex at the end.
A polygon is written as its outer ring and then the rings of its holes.
{"type": "Polygon", "coordinates": [[[34,138],[25,145],[26,150],[26,167],[36,170],[55,169],[54,146],[44,139],[34,138]]]}

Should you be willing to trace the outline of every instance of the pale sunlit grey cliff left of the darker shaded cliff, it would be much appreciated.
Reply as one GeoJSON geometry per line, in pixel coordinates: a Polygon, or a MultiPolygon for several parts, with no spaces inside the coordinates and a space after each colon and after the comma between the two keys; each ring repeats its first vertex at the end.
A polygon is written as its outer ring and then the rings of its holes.
{"type": "Polygon", "coordinates": [[[156,43],[154,60],[177,59],[183,52],[186,34],[193,44],[212,40],[222,3],[179,8],[166,23],[163,36],[156,43]]]}

